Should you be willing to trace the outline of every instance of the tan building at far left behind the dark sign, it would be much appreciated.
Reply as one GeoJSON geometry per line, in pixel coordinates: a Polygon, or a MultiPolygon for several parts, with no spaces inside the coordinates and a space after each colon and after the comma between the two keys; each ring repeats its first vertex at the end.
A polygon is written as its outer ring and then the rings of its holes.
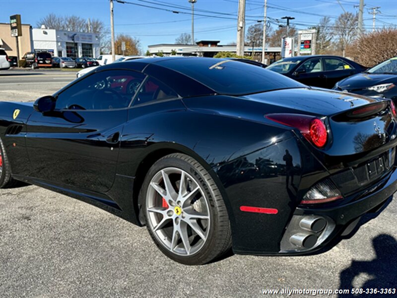
{"type": "MultiPolygon", "coordinates": [[[[19,57],[33,50],[32,26],[22,24],[22,36],[18,37],[19,57]]],[[[0,48],[4,48],[8,56],[16,55],[16,37],[11,37],[9,23],[0,23],[0,48]]]]}

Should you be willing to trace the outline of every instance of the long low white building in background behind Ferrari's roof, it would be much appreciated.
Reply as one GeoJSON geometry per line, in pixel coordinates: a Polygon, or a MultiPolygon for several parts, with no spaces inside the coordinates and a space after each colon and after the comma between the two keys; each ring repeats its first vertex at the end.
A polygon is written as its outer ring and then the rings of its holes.
{"type": "MultiPolygon", "coordinates": [[[[181,56],[200,56],[213,57],[219,52],[237,53],[237,46],[235,45],[219,45],[218,40],[200,40],[196,45],[185,44],[157,44],[148,46],[149,53],[156,55],[163,53],[165,56],[172,54],[181,56]]],[[[281,47],[267,47],[265,48],[265,57],[268,63],[274,61],[281,53],[281,47]]],[[[262,47],[244,47],[245,55],[262,55],[262,47]]]]}

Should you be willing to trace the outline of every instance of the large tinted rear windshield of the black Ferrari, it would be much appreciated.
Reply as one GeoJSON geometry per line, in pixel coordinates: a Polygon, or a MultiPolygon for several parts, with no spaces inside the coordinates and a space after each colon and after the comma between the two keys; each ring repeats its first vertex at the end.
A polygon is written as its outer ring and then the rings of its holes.
{"type": "Polygon", "coordinates": [[[182,58],[165,60],[158,64],[190,76],[218,94],[243,95],[306,87],[284,75],[233,60],[182,58]]]}

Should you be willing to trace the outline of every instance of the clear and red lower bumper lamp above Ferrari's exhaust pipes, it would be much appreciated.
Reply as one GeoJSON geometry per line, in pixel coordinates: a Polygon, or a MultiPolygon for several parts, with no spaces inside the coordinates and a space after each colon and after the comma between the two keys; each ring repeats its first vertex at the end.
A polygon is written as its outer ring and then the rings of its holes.
{"type": "Polygon", "coordinates": [[[313,186],[303,197],[301,204],[319,204],[342,199],[342,194],[330,179],[313,186]]]}

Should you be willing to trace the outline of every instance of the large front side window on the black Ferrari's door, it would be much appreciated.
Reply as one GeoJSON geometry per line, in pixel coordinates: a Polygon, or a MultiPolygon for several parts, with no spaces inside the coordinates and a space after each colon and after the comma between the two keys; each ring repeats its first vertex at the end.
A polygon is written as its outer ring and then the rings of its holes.
{"type": "Polygon", "coordinates": [[[88,75],[58,95],[56,109],[126,108],[144,77],[134,71],[105,71],[88,75]]]}

